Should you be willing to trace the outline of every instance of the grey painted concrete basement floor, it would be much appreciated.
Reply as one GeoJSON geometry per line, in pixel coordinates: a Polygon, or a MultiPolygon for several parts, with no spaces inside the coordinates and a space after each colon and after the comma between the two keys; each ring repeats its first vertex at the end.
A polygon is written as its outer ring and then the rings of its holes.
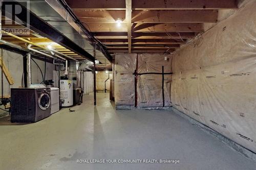
{"type": "Polygon", "coordinates": [[[93,95],[28,125],[0,120],[0,169],[256,169],[256,164],[171,111],[115,111],[93,95]],[[77,159],[178,159],[179,164],[91,164],[77,159]]]}

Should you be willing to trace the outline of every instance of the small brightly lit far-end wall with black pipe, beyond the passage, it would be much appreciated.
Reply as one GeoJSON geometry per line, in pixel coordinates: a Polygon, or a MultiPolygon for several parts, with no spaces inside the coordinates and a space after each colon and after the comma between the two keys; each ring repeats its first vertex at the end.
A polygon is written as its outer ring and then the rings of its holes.
{"type": "Polygon", "coordinates": [[[106,90],[110,90],[110,80],[113,79],[112,72],[97,71],[96,74],[96,90],[97,92],[105,91],[105,81],[106,90]]]}

